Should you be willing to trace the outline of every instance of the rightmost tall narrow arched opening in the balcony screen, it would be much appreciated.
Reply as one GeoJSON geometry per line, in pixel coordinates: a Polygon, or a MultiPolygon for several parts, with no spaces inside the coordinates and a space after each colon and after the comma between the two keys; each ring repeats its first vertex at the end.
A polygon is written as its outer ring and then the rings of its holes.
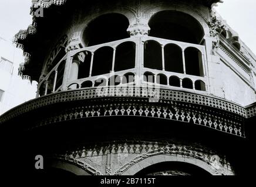
{"type": "Polygon", "coordinates": [[[201,51],[188,47],[185,51],[186,73],[188,75],[204,76],[201,51]]]}

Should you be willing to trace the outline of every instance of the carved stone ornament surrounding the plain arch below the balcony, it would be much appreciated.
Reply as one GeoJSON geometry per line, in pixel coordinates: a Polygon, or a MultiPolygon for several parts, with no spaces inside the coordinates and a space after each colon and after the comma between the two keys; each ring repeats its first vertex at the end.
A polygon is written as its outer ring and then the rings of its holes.
{"type": "MultiPolygon", "coordinates": [[[[76,164],[93,175],[102,175],[102,172],[99,170],[104,171],[105,167],[105,175],[122,175],[125,171],[127,171],[127,169],[140,161],[145,160],[146,158],[157,155],[186,155],[186,157],[193,157],[206,162],[217,175],[233,175],[230,164],[227,160],[225,160],[225,157],[221,156],[220,154],[213,153],[211,150],[208,150],[205,147],[179,145],[173,144],[169,141],[151,142],[144,140],[126,140],[117,142],[118,143],[102,143],[99,145],[90,145],[89,147],[76,148],[76,151],[67,151],[65,155],[57,154],[54,156],[54,158],[76,164]],[[91,154],[108,156],[110,153],[105,151],[108,149],[112,154],[126,154],[128,159],[127,162],[124,162],[125,164],[119,163],[119,168],[115,169],[113,173],[111,165],[102,165],[102,168],[97,170],[93,168],[85,159],[82,159],[90,157],[91,154]]],[[[167,172],[166,174],[170,173],[167,172]]]]}

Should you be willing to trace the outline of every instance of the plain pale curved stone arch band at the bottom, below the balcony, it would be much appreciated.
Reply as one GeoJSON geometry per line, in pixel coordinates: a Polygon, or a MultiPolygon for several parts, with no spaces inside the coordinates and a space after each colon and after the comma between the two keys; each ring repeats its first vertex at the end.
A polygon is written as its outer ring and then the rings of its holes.
{"type": "Polygon", "coordinates": [[[164,162],[184,162],[187,164],[193,164],[195,167],[204,169],[211,175],[220,175],[211,165],[207,164],[202,160],[186,155],[186,157],[177,157],[177,155],[154,155],[152,157],[145,158],[142,161],[139,161],[137,164],[132,165],[128,168],[122,175],[135,175],[142,169],[149,167],[150,165],[164,163],[164,162]],[[139,167],[138,167],[139,166],[139,167]]]}

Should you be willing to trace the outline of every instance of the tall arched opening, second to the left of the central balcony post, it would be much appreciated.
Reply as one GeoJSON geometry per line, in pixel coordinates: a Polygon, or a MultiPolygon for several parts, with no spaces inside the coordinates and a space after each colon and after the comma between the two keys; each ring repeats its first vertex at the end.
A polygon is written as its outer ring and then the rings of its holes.
{"type": "Polygon", "coordinates": [[[109,74],[112,70],[113,48],[101,47],[95,51],[93,58],[92,76],[109,74]]]}

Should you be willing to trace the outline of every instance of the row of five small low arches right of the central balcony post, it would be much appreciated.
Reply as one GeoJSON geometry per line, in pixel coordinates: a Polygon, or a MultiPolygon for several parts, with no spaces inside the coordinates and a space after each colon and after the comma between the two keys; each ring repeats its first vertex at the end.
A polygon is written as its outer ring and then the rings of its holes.
{"type": "Polygon", "coordinates": [[[164,74],[154,75],[152,72],[145,72],[143,76],[143,81],[157,83],[160,85],[169,85],[187,89],[196,89],[197,91],[206,91],[206,84],[197,80],[193,82],[190,78],[178,78],[177,76],[167,77],[164,74]]]}

